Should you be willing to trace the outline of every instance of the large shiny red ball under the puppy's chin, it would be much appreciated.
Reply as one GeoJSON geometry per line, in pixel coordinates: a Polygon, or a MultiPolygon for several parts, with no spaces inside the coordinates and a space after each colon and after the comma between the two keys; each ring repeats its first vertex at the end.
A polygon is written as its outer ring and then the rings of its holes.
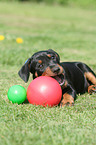
{"type": "Polygon", "coordinates": [[[59,83],[47,76],[34,79],[28,86],[27,99],[33,105],[56,106],[61,101],[62,90],[59,83]]]}

